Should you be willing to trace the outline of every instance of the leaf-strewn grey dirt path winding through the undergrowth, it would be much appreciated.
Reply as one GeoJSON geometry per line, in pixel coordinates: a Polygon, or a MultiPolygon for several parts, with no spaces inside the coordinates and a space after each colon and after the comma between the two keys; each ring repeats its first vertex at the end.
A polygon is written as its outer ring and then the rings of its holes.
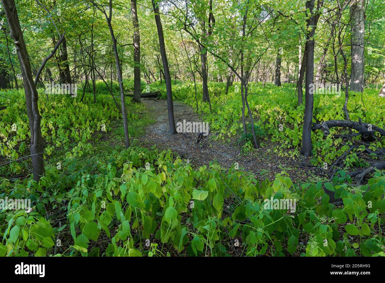
{"type": "MultiPolygon", "coordinates": [[[[209,165],[210,161],[229,168],[238,162],[239,168],[243,167],[247,171],[252,171],[256,175],[267,176],[269,180],[274,180],[275,175],[285,170],[290,177],[296,181],[306,181],[311,173],[311,168],[296,166],[287,158],[279,157],[273,153],[277,145],[271,142],[264,142],[265,146],[254,150],[248,155],[241,153],[242,147],[236,144],[236,138],[226,142],[213,140],[216,133],[210,132],[197,143],[199,133],[177,133],[171,135],[168,131],[167,100],[143,99],[156,123],[146,128],[146,134],[138,138],[141,145],[149,147],[156,145],[160,149],[171,149],[174,153],[181,156],[193,166],[209,165]]],[[[203,122],[194,110],[180,102],[174,102],[175,123],[183,122],[203,122]]]]}

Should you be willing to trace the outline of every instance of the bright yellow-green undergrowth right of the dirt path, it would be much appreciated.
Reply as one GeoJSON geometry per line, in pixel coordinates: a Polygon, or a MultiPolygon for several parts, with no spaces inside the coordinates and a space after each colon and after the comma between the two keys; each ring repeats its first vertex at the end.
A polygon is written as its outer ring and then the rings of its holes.
{"type": "MultiPolygon", "coordinates": [[[[159,82],[153,83],[152,88],[162,90],[165,97],[165,85],[159,82]]],[[[209,93],[212,111],[209,110],[208,103],[204,103],[201,94],[201,85],[197,84],[198,108],[199,112],[204,114],[204,120],[209,122],[211,131],[218,133],[219,139],[227,139],[234,135],[241,135],[242,120],[241,110],[242,101],[239,83],[234,83],[229,88],[228,95],[224,94],[225,83],[209,83],[209,93]],[[238,92],[236,92],[238,90],[238,92]]],[[[176,82],[172,85],[174,98],[189,104],[196,109],[196,100],[194,95],[194,84],[190,82],[176,82]]],[[[249,85],[248,95],[249,105],[254,116],[254,125],[261,129],[265,137],[271,142],[280,144],[275,149],[275,153],[295,158],[300,156],[302,141],[302,125],[305,105],[298,106],[295,89],[290,85],[286,87],[275,87],[271,84],[251,83],[249,85]]],[[[361,93],[350,92],[348,110],[350,119],[371,123],[380,128],[385,128],[383,113],[385,112],[385,103],[379,100],[378,90],[365,89],[361,93]]],[[[314,95],[314,115],[313,122],[323,122],[327,120],[345,120],[342,111],[345,96],[342,94],[315,94],[314,95]]],[[[249,121],[246,110],[246,121],[249,121]]],[[[353,130],[353,133],[355,130],[353,130]]],[[[249,133],[251,133],[249,131],[249,133]]],[[[343,166],[363,167],[368,163],[363,158],[365,145],[361,137],[353,137],[352,140],[346,140],[343,137],[334,137],[335,134],[347,134],[347,129],[331,128],[330,135],[323,137],[322,131],[312,132],[313,156],[312,165],[323,165],[324,162],[330,166],[334,161],[342,156],[343,166]],[[353,147],[352,150],[350,148],[353,147]]],[[[251,141],[245,142],[245,148],[252,148],[251,141]]],[[[376,152],[385,146],[385,140],[377,139],[374,142],[367,142],[367,148],[376,152]]],[[[377,159],[378,156],[372,153],[370,159],[377,159]]]]}

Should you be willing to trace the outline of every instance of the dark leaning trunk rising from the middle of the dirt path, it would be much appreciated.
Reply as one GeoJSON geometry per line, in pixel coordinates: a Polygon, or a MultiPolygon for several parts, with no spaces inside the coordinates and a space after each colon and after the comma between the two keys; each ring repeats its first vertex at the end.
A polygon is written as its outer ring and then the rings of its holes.
{"type": "Polygon", "coordinates": [[[166,82],[169,132],[172,135],[174,135],[176,134],[176,127],[175,127],[175,121],[174,121],[174,105],[172,104],[171,76],[170,76],[170,70],[169,70],[168,61],[167,61],[166,48],[164,46],[163,27],[162,27],[161,17],[159,15],[159,6],[158,6],[158,3],[155,3],[155,1],[156,0],[151,0],[152,7],[154,8],[156,28],[158,30],[159,50],[162,57],[164,80],[166,82]]]}

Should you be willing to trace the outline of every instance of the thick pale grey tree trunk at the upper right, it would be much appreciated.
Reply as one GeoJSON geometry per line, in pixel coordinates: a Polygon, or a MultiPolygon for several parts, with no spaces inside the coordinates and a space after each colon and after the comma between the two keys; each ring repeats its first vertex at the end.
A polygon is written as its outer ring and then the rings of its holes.
{"type": "Polygon", "coordinates": [[[350,90],[363,91],[365,0],[353,0],[350,5],[351,57],[350,90]]]}

